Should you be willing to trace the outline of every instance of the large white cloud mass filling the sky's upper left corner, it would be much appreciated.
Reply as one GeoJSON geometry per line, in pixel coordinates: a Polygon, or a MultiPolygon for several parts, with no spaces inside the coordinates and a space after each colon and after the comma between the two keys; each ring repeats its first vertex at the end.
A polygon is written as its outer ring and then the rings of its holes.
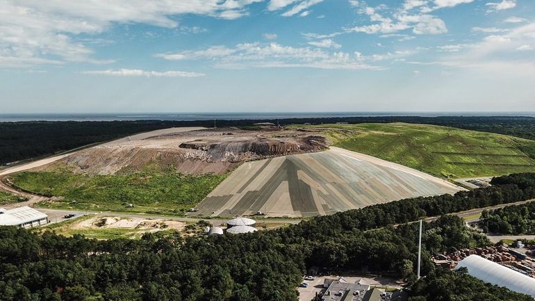
{"type": "Polygon", "coordinates": [[[263,0],[0,0],[0,67],[110,63],[92,58],[94,51],[77,35],[102,33],[115,23],[178,28],[173,15],[235,19],[258,1],[263,0]]]}

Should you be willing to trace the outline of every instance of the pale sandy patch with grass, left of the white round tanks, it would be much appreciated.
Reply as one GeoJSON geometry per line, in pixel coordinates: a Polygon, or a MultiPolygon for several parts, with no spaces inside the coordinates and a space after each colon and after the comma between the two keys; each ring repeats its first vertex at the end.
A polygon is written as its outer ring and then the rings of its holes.
{"type": "Polygon", "coordinates": [[[39,231],[50,229],[64,236],[83,234],[88,238],[112,239],[140,238],[145,233],[157,231],[183,231],[185,227],[185,222],[176,220],[88,215],[52,224],[39,231]]]}

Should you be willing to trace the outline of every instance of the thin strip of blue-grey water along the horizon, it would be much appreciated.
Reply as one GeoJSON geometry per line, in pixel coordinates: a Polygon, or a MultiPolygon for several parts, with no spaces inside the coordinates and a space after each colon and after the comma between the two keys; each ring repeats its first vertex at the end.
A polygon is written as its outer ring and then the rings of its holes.
{"type": "Polygon", "coordinates": [[[113,120],[261,120],[314,117],[379,116],[527,116],[535,112],[320,112],[320,113],[108,113],[108,114],[0,114],[0,122],[15,121],[113,121],[113,120]]]}

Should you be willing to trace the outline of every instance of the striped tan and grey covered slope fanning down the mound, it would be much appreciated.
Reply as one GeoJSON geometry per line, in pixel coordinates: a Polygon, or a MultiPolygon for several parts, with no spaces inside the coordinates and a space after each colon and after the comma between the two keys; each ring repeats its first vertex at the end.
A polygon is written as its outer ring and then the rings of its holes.
{"type": "Polygon", "coordinates": [[[212,216],[303,217],[461,190],[405,166],[333,147],[241,165],[196,208],[212,216]]]}

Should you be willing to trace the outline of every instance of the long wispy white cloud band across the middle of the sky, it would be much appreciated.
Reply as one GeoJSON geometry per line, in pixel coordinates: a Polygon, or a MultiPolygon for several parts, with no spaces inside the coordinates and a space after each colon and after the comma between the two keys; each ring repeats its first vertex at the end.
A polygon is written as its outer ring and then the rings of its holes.
{"type": "MultiPolygon", "coordinates": [[[[325,45],[331,44],[325,42],[325,45]]],[[[374,62],[397,59],[411,55],[408,51],[363,56],[359,52],[327,51],[311,47],[290,47],[277,43],[245,43],[235,47],[210,47],[197,51],[180,51],[156,56],[172,60],[208,60],[215,67],[241,69],[247,67],[310,67],[328,70],[383,70],[374,62]],[[217,49],[217,51],[214,51],[217,49]]]]}

